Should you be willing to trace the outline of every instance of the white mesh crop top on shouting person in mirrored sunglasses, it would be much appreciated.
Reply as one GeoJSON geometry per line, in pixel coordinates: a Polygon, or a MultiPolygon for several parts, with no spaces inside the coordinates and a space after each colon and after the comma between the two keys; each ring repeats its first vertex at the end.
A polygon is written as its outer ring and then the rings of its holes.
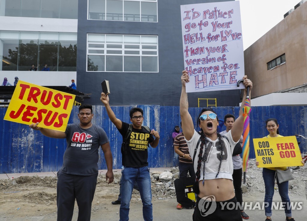
{"type": "MultiPolygon", "coordinates": [[[[206,159],[202,159],[199,180],[212,180],[215,179],[215,177],[232,180],[232,172],[233,172],[232,153],[237,142],[233,141],[231,136],[231,130],[228,131],[228,133],[224,134],[224,136],[228,138],[229,142],[227,141],[226,138],[222,138],[224,141],[223,155],[222,155],[222,164],[219,175],[216,177],[220,165],[220,151],[221,151],[221,149],[219,148],[220,141],[219,138],[217,138],[215,141],[212,141],[211,139],[207,138],[208,142],[206,149],[206,159]],[[225,149],[227,151],[225,151],[225,149]],[[204,160],[205,160],[205,176],[203,176],[204,160]]],[[[191,140],[187,141],[189,153],[192,159],[194,156],[195,147],[199,139],[200,139],[200,134],[198,134],[196,130],[194,130],[194,134],[191,140]]],[[[201,142],[197,147],[195,160],[193,162],[195,173],[197,171],[197,162],[198,162],[200,144],[201,142]]],[[[204,156],[204,149],[202,154],[203,156],[204,156]]]]}

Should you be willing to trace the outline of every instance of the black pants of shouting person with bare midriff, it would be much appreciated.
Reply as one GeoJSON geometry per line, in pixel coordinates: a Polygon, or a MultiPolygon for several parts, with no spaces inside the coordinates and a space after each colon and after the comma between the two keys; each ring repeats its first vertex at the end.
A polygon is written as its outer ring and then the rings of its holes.
{"type": "MultiPolygon", "coordinates": [[[[237,200],[235,199],[235,197],[230,200],[223,201],[223,202],[216,202],[215,211],[205,216],[201,214],[199,206],[198,206],[200,199],[201,198],[197,196],[196,206],[194,208],[194,213],[192,216],[193,221],[202,221],[202,220],[205,220],[205,221],[242,221],[240,209],[238,206],[235,206],[231,210],[227,209],[227,205],[229,203],[230,203],[228,206],[229,208],[232,208],[233,207],[232,205],[236,205],[237,200]],[[223,204],[224,207],[221,206],[221,203],[223,204]]],[[[210,208],[212,204],[209,204],[206,206],[207,208],[210,208]]]]}

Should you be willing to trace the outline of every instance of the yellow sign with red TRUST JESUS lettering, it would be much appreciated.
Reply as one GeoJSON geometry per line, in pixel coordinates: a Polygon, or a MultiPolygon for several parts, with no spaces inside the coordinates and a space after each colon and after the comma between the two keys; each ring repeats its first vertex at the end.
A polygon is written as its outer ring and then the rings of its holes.
{"type": "Polygon", "coordinates": [[[75,97],[19,80],[4,119],[65,131],[75,97]]]}

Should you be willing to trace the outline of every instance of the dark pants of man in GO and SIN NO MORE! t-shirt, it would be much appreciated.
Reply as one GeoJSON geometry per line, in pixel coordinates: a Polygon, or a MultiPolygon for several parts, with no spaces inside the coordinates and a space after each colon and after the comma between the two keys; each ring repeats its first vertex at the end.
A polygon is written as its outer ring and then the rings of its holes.
{"type": "Polygon", "coordinates": [[[75,200],[79,208],[78,221],[91,220],[91,207],[96,189],[97,176],[98,174],[79,176],[61,171],[57,173],[57,221],[72,220],[75,200]]]}

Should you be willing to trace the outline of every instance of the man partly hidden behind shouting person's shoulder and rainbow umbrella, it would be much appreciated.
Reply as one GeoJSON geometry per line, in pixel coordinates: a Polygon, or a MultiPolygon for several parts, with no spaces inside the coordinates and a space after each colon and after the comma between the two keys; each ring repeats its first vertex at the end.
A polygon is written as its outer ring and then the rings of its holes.
{"type": "MultiPolygon", "coordinates": [[[[224,135],[229,130],[231,130],[233,123],[235,122],[235,116],[232,114],[226,114],[224,117],[224,125],[226,126],[226,130],[222,131],[220,134],[224,135]]],[[[241,136],[239,140],[241,146],[243,144],[243,136],[241,136]]],[[[232,173],[232,179],[233,179],[233,186],[235,188],[235,197],[237,198],[238,203],[242,205],[243,199],[242,199],[242,161],[240,155],[232,156],[232,162],[233,162],[233,173],[232,173]]],[[[241,216],[243,219],[249,219],[249,216],[244,212],[244,210],[241,210],[241,216]]]]}

